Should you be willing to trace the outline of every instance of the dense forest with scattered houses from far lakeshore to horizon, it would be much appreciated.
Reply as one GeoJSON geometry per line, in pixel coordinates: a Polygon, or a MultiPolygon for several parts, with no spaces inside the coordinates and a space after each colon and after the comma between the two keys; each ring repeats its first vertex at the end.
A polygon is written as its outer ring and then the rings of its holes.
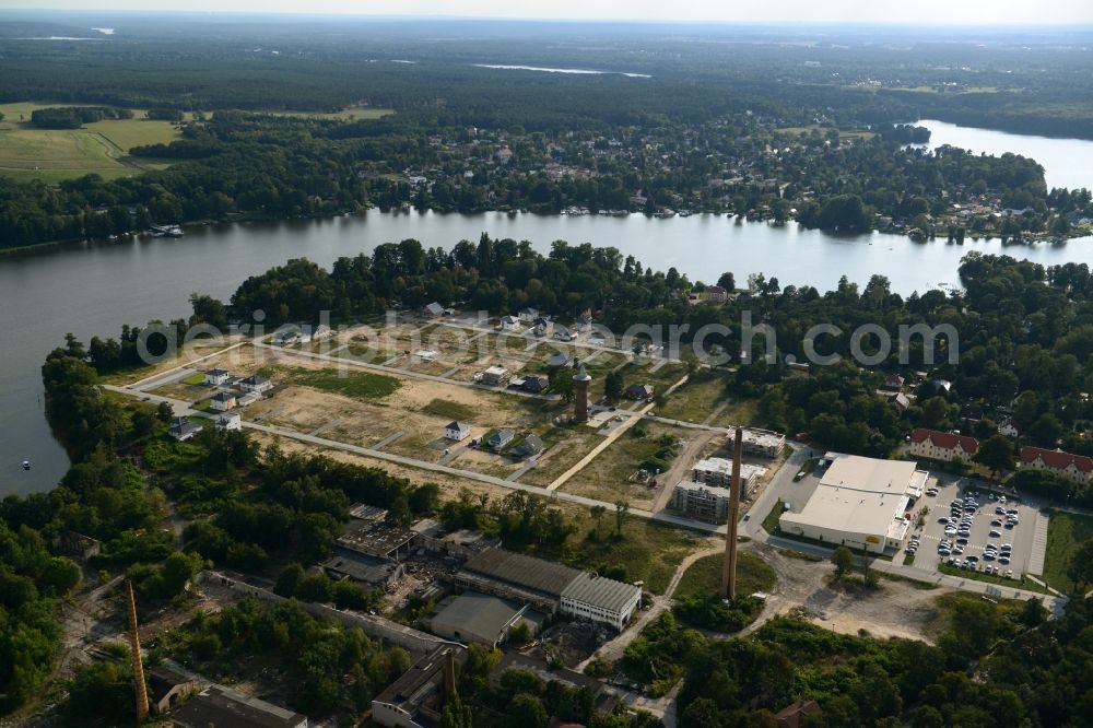
{"type": "Polygon", "coordinates": [[[172,161],[167,169],[57,186],[0,178],[0,246],[373,206],[702,210],[961,239],[1065,237],[1093,216],[1088,191],[1049,193],[1034,161],[903,149],[926,137],[902,122],[929,117],[1093,137],[1093,108],[1078,101],[1093,77],[1077,55],[1046,42],[1018,54],[1003,39],[985,48],[947,40],[945,57],[963,64],[939,70],[924,60],[932,49],[924,39],[902,51],[894,39],[879,49],[850,37],[847,54],[745,34],[744,52],[725,43],[736,38],[725,28],[705,36],[694,28],[682,43],[607,25],[599,32],[610,52],[592,58],[560,48],[557,38],[578,32],[565,26],[485,24],[475,26],[485,42],[475,44],[459,38],[458,23],[432,28],[443,43],[399,23],[375,33],[350,26],[343,39],[305,27],[287,34],[275,23],[227,23],[210,39],[186,36],[183,21],[167,37],[136,23],[105,43],[8,40],[0,101],[96,104],[39,109],[34,125],[79,127],[133,107],[152,107],[151,118],[161,119],[197,114],[181,140],[131,151],[138,161],[172,161]],[[259,38],[277,52],[239,49],[259,38]],[[414,62],[383,60],[406,55],[414,62]],[[506,62],[604,72],[484,67],[506,62]],[[1063,97],[1072,99],[1067,110],[1063,97]],[[396,113],[360,120],[277,114],[354,105],[396,113]],[[880,133],[841,136],[870,128],[880,133]],[[954,204],[976,214],[955,220],[954,204]],[[1002,210],[1022,214],[992,214],[1002,210]]]}

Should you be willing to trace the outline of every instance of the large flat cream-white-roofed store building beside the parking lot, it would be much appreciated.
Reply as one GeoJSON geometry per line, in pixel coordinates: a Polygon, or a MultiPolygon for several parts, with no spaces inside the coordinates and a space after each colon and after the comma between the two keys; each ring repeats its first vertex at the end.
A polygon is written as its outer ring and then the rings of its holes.
{"type": "Polygon", "coordinates": [[[828,454],[828,465],[800,513],[786,512],[786,533],[873,553],[898,549],[910,528],[910,504],[929,473],[914,462],[828,454]]]}

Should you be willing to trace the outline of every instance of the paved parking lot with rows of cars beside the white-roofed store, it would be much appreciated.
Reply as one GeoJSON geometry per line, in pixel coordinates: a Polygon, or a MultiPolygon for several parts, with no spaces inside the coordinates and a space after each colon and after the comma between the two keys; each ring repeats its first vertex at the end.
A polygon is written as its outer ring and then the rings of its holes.
{"type": "MultiPolygon", "coordinates": [[[[954,548],[951,557],[963,562],[968,556],[974,556],[978,560],[978,571],[983,571],[985,566],[995,566],[998,568],[999,576],[1012,570],[1013,577],[1020,578],[1022,574],[1029,571],[1037,516],[1036,509],[1020,502],[1003,502],[1004,496],[991,500],[988,492],[976,492],[975,489],[966,486],[965,483],[964,479],[956,479],[955,481],[947,479],[947,482],[939,482],[937,486],[938,494],[936,496],[922,496],[915,505],[916,512],[925,505],[929,507],[929,513],[926,516],[926,525],[922,528],[913,529],[910,533],[910,536],[917,536],[921,542],[915,554],[913,565],[924,571],[933,572],[937,571],[940,562],[948,563],[948,556],[943,557],[938,554],[939,544],[943,540],[948,540],[955,547],[956,540],[962,537],[959,535],[947,536],[947,525],[941,521],[951,517],[951,504],[956,498],[964,500],[974,493],[978,507],[974,512],[962,509],[962,515],[956,516],[957,522],[964,516],[973,517],[972,526],[968,529],[969,533],[966,537],[967,543],[964,544],[963,553],[957,553],[957,550],[954,548]],[[1008,524],[1006,515],[996,513],[996,508],[999,507],[1006,510],[1016,510],[1019,522],[1008,524]],[[997,536],[991,536],[991,533],[997,533],[997,536]],[[988,544],[994,544],[997,550],[997,556],[994,559],[989,555],[985,557],[984,549],[988,544]],[[1001,550],[1002,544],[1012,545],[1009,564],[1003,564],[999,561],[1003,555],[1001,550]]],[[[898,557],[896,559],[896,563],[900,563],[898,557]]]]}

